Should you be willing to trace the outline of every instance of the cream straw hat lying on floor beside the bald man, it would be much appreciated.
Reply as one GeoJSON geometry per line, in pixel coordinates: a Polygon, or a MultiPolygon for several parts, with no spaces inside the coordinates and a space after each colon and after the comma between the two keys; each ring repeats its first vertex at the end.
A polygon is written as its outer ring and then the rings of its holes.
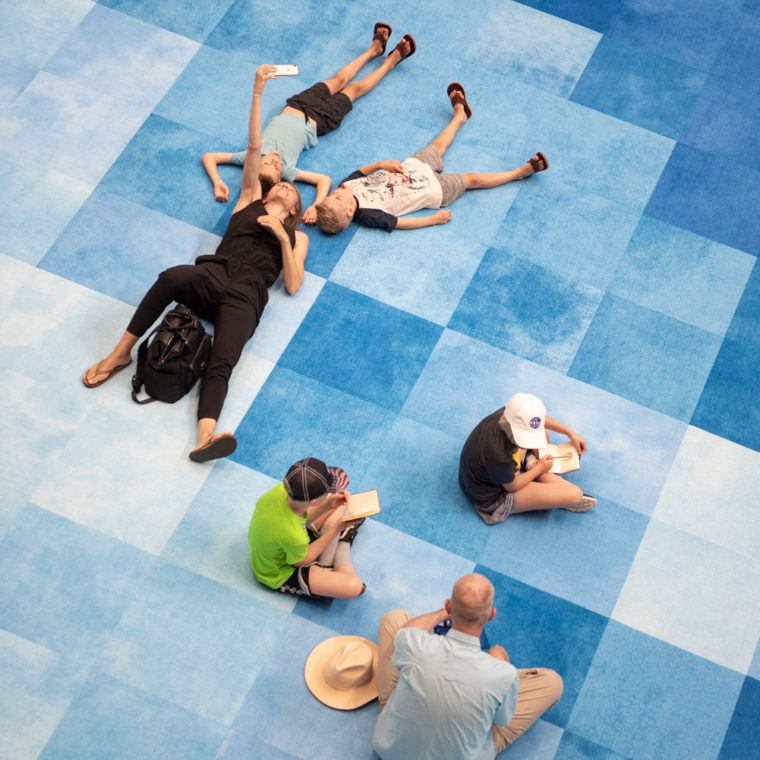
{"type": "Polygon", "coordinates": [[[361,636],[326,639],[306,659],[306,685],[328,707],[361,707],[377,697],[377,651],[377,644],[361,636]]]}

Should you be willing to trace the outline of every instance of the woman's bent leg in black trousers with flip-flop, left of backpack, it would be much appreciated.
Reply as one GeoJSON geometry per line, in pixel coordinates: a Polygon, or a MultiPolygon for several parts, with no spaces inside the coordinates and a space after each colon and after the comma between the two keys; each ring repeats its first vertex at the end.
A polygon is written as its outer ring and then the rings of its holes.
{"type": "Polygon", "coordinates": [[[164,270],[143,296],[113,351],[105,359],[93,364],[84,373],[82,382],[88,388],[96,388],[120,369],[127,367],[132,361],[131,353],[137,341],[172,301],[202,312],[206,301],[213,298],[214,284],[208,280],[202,268],[183,264],[164,270]]]}

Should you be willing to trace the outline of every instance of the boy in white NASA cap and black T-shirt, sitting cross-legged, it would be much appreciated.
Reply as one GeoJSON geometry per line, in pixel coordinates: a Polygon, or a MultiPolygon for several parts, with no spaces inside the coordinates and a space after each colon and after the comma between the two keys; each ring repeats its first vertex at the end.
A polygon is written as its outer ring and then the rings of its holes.
{"type": "Polygon", "coordinates": [[[548,443],[547,431],[567,436],[579,456],[585,453],[586,441],[547,417],[541,399],[531,393],[516,393],[470,433],[459,459],[459,485],[485,523],[503,522],[517,512],[587,512],[596,505],[593,496],[549,472],[550,456],[529,454],[548,443]]]}

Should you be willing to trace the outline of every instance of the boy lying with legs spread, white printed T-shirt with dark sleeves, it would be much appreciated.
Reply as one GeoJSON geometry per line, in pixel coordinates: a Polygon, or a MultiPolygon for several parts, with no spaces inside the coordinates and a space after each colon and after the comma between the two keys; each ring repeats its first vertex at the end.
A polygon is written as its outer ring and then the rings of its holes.
{"type": "Polygon", "coordinates": [[[461,84],[452,82],[447,93],[454,115],[438,137],[404,161],[376,161],[349,174],[316,206],[317,226],[322,232],[334,235],[352,221],[387,232],[446,224],[451,212],[445,207],[466,190],[498,187],[549,168],[546,156],[536,153],[526,164],[510,171],[443,174],[443,154],[472,115],[461,84]],[[442,210],[429,216],[400,218],[422,208],[442,210]]]}

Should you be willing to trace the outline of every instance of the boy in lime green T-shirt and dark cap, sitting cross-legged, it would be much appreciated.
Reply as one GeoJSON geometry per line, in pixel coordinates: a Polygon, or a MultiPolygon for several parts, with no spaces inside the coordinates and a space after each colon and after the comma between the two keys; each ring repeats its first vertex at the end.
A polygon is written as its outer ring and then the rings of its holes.
{"type": "Polygon", "coordinates": [[[351,564],[351,544],[364,518],[344,522],[347,487],[343,470],[307,457],[256,502],[248,547],[259,583],[301,596],[364,593],[351,564]]]}

